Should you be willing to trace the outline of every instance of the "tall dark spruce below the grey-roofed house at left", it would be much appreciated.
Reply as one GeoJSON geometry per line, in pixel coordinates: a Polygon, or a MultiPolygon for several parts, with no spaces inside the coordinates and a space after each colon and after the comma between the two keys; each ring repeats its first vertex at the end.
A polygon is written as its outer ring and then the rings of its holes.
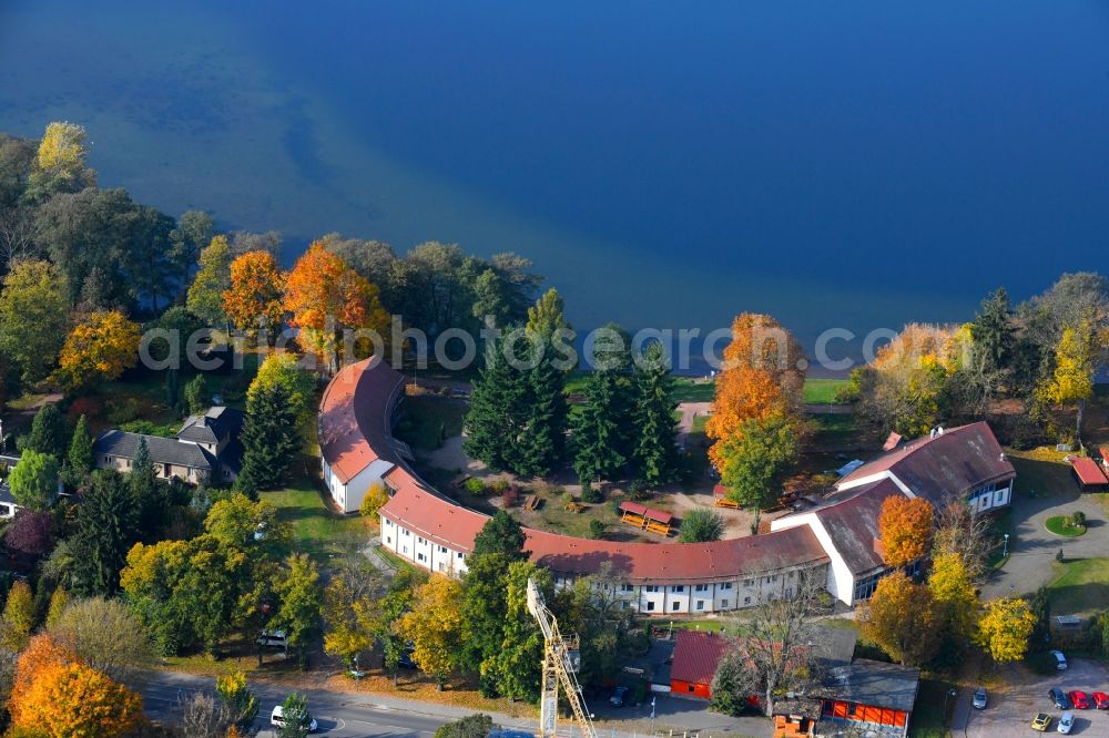
{"type": "Polygon", "coordinates": [[[128,551],[138,540],[134,496],[123,476],[94,472],[77,506],[77,532],[69,539],[74,594],[114,595],[128,551]]]}

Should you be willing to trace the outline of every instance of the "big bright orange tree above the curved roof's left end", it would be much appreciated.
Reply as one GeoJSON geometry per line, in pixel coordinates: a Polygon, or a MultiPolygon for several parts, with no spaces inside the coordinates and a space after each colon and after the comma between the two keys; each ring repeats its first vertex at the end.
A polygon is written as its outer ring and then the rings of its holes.
{"type": "MultiPolygon", "coordinates": [[[[333,371],[338,369],[345,330],[373,330],[383,338],[388,331],[389,316],[377,286],[319,242],[308,247],[289,273],[285,309],[306,346],[325,356],[333,371]]],[[[356,341],[354,349],[362,356],[370,353],[365,339],[356,341]]]]}

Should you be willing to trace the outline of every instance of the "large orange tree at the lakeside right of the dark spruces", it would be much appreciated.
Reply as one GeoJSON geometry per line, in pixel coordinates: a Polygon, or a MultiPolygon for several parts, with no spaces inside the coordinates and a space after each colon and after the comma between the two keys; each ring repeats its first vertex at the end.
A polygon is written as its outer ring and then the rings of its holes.
{"type": "MultiPolygon", "coordinates": [[[[745,439],[753,431],[773,439],[781,432],[796,437],[803,428],[798,420],[801,391],[804,385],[804,353],[796,339],[776,320],[765,315],[744,312],[732,322],[732,341],[724,349],[724,361],[716,377],[716,396],[705,433],[713,439],[709,459],[721,471],[722,481],[730,489],[751,486],[743,470],[754,469],[745,459],[757,455],[752,445],[765,450],[766,442],[745,439]],[[769,430],[772,429],[772,430],[769,430]],[[742,478],[742,479],[741,479],[742,478]]],[[[777,447],[781,439],[774,440],[777,447]]],[[[777,454],[781,462],[775,469],[759,465],[761,480],[777,480],[793,453],[777,454]]],[[[764,486],[756,482],[755,486],[764,486]]],[[[737,502],[774,496],[771,490],[743,494],[737,502]]]]}

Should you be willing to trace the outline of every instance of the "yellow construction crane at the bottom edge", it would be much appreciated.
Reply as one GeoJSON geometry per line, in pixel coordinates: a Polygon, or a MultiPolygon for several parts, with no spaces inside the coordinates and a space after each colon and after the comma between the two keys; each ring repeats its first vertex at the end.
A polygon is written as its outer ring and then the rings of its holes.
{"type": "Polygon", "coordinates": [[[597,738],[592,716],[586,709],[586,700],[581,696],[581,685],[578,684],[578,669],[581,666],[581,653],[577,636],[563,637],[558,629],[558,621],[547,609],[543,594],[535,581],[528,580],[528,612],[539,623],[543,632],[543,690],[539,704],[539,738],[554,738],[558,728],[558,689],[559,685],[566,693],[573,717],[578,720],[584,738],[597,738]]]}

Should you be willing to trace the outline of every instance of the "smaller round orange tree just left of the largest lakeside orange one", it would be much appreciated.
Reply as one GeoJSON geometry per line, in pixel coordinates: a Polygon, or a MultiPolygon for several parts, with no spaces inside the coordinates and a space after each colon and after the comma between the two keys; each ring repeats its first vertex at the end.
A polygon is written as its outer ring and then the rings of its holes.
{"type": "Polygon", "coordinates": [[[273,346],[285,314],[285,275],[269,252],[246,252],[231,263],[231,288],[223,311],[240,330],[264,330],[273,346]]]}

